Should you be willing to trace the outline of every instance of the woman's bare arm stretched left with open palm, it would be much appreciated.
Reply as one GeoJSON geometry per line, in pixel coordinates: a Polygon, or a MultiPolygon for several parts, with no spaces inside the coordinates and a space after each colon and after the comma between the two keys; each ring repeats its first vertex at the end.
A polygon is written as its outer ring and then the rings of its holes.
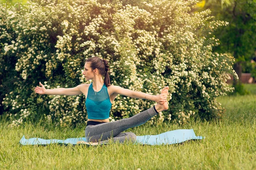
{"type": "Polygon", "coordinates": [[[79,94],[83,94],[80,91],[81,85],[78,85],[74,88],[54,88],[54,89],[46,89],[44,85],[39,82],[39,85],[35,88],[35,93],[37,94],[49,94],[49,95],[66,95],[66,96],[76,96],[79,94]]]}

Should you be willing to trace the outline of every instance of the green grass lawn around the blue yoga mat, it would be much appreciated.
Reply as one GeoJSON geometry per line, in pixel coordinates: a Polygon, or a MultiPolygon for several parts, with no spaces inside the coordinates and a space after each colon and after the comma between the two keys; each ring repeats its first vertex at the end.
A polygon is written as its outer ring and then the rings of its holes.
{"type": "Polygon", "coordinates": [[[223,96],[226,108],[221,122],[169,123],[150,127],[147,123],[128,129],[137,136],[193,128],[203,140],[172,145],[109,144],[85,147],[51,144],[20,146],[26,139],[67,139],[84,136],[84,125],[72,129],[25,124],[8,128],[0,122],[0,169],[256,169],[256,86],[247,96],[223,96]]]}

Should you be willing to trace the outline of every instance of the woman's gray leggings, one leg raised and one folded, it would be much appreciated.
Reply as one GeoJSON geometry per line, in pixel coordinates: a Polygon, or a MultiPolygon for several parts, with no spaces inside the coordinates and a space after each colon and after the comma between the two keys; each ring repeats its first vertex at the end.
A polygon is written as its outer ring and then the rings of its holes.
{"type": "Polygon", "coordinates": [[[115,122],[106,122],[99,125],[87,125],[85,128],[85,137],[87,142],[99,142],[99,144],[113,142],[124,143],[126,140],[136,141],[136,135],[132,132],[121,133],[131,127],[136,127],[147,122],[157,112],[154,107],[140,112],[130,118],[117,120],[115,122]]]}

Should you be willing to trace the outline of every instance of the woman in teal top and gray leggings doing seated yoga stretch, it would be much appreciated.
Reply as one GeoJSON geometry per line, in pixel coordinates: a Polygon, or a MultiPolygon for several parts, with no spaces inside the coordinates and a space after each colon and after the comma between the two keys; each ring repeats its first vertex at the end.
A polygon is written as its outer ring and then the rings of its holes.
{"type": "Polygon", "coordinates": [[[85,105],[88,113],[88,120],[85,128],[85,137],[87,142],[79,141],[78,144],[96,145],[108,143],[109,140],[123,143],[127,139],[131,139],[135,142],[136,135],[134,133],[122,133],[122,131],[142,125],[160,111],[168,109],[166,100],[169,90],[168,86],[163,88],[161,94],[157,96],[138,91],[131,91],[116,85],[111,85],[108,71],[109,66],[105,59],[92,57],[86,60],[83,72],[84,77],[87,80],[91,79],[92,83],[81,84],[74,88],[45,89],[44,85],[40,82],[39,85],[41,85],[41,87],[37,86],[35,88],[35,92],[38,94],[67,96],[84,94],[86,96],[85,105]],[[102,78],[103,75],[105,75],[104,81],[102,78]],[[130,118],[110,122],[108,119],[110,109],[118,94],[137,99],[148,99],[155,101],[158,104],[130,118]]]}

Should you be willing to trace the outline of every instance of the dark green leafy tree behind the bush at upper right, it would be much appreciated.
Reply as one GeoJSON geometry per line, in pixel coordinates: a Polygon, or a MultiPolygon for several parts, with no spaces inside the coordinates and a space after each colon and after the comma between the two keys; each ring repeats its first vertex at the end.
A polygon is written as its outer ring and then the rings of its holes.
{"type": "Polygon", "coordinates": [[[241,79],[241,62],[250,61],[256,48],[256,0],[206,0],[201,10],[205,9],[212,11],[215,20],[229,23],[215,31],[220,45],[213,50],[236,58],[234,69],[241,79]]]}

